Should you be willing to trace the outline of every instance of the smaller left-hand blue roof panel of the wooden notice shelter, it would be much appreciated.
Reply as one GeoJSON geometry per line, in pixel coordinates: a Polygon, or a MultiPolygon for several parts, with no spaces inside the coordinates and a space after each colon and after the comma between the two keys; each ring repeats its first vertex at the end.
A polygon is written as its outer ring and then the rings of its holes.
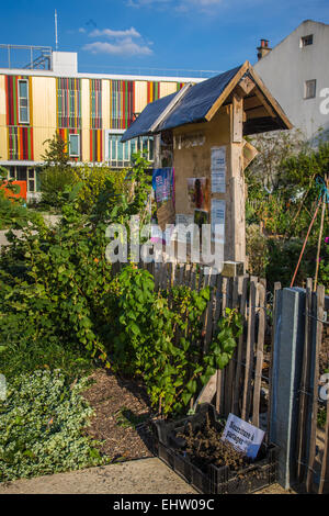
{"type": "Polygon", "coordinates": [[[175,96],[177,93],[171,93],[169,96],[162,97],[162,99],[147,104],[140,115],[124,133],[121,141],[126,142],[127,139],[136,138],[137,136],[147,136],[150,134],[150,127],[175,96]]]}

